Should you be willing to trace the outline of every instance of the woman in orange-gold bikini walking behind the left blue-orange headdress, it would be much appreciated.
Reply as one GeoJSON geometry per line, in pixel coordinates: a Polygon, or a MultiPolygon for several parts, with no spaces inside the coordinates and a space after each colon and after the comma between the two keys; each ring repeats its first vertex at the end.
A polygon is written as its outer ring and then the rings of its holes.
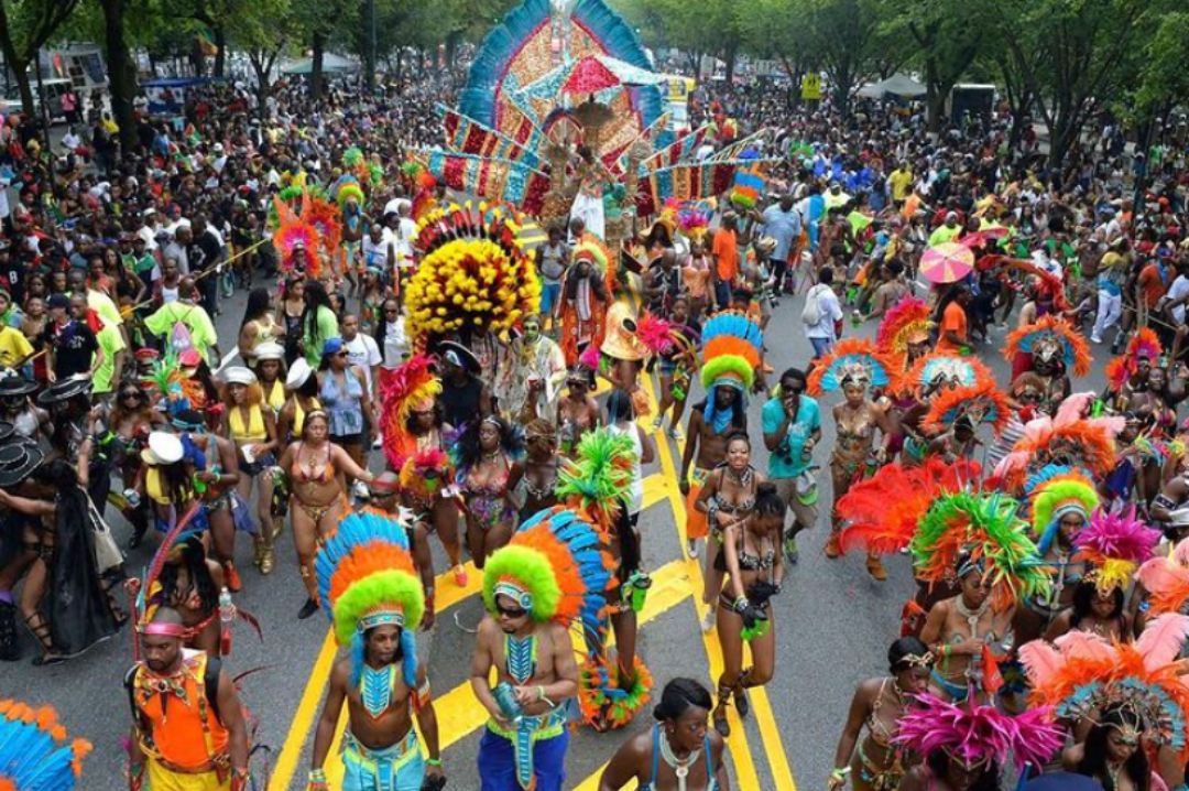
{"type": "Polygon", "coordinates": [[[298,572],[307,598],[297,613],[300,620],[317,611],[317,580],[314,553],[322,536],[333,531],[350,510],[344,475],[371,483],[375,478],[329,438],[331,421],[321,409],[306,415],[301,440],[291,442],[281,457],[281,469],[289,475],[298,572]]]}

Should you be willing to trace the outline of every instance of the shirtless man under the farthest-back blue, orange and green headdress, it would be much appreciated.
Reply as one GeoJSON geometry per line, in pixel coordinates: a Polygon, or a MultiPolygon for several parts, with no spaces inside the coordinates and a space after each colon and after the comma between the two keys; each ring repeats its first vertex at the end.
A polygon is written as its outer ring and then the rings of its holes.
{"type": "Polygon", "coordinates": [[[747,433],[747,413],[743,410],[742,395],[730,387],[713,388],[713,418],[706,422],[706,401],[696,403],[690,410],[690,423],[685,435],[685,453],[681,454],[681,475],[678,476],[678,485],[686,497],[685,510],[685,538],[686,552],[691,558],[698,554],[698,539],[707,535],[706,514],[699,511],[694,504],[702,492],[702,484],[706,482],[710,471],[726,459],[726,438],[735,432],[747,433]],[[716,431],[716,423],[723,422],[716,431]],[[694,458],[697,462],[694,463],[694,458]],[[693,463],[693,473],[690,473],[690,464],[693,463]]]}

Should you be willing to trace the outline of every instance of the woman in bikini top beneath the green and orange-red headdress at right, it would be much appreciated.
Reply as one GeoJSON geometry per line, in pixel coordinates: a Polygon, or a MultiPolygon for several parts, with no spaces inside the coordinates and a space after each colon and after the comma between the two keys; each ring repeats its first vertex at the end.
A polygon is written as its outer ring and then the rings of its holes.
{"type": "Polygon", "coordinates": [[[971,688],[982,689],[987,672],[983,648],[989,646],[999,657],[1013,648],[1017,608],[1014,603],[999,609],[993,605],[993,579],[981,563],[961,558],[957,577],[962,592],[933,604],[920,639],[933,653],[931,691],[945,701],[961,702],[971,688]]]}

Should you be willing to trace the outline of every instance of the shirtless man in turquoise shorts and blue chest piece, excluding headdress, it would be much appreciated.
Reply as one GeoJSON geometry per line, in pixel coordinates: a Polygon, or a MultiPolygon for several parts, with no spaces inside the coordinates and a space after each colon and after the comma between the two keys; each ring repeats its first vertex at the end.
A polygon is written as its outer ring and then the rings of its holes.
{"type": "Polygon", "coordinates": [[[429,680],[424,665],[417,665],[416,689],[405,684],[401,672],[402,627],[383,623],[363,632],[365,668],[353,679],[352,659],[344,657],[331,671],[331,688],[314,735],[307,791],[328,791],[322,764],[331,751],[334,730],[347,703],[350,721],[342,734],[344,789],[360,791],[441,789],[445,785],[438,751],[438,715],[429,698],[429,680]],[[383,684],[369,684],[367,678],[386,673],[383,684]],[[364,699],[364,690],[367,699],[364,699]],[[377,695],[378,692],[378,695],[377,695]],[[429,758],[421,758],[413,715],[426,739],[429,758]],[[433,778],[433,780],[430,780],[433,778]]]}

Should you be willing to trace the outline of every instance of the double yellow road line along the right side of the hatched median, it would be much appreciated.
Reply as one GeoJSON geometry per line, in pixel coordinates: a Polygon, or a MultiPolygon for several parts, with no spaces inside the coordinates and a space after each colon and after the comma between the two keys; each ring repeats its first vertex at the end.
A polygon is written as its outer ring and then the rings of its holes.
{"type": "MultiPolygon", "coordinates": [[[[653,395],[653,383],[652,379],[643,377],[644,391],[648,394],[649,400],[655,404],[656,400],[653,395]]],[[[655,406],[653,407],[655,409],[655,406]]],[[[673,508],[673,520],[677,523],[678,534],[681,538],[681,546],[684,551],[685,546],[685,498],[681,497],[680,491],[677,488],[677,470],[673,466],[673,454],[669,452],[668,442],[665,441],[663,435],[658,438],[658,454],[661,462],[661,472],[666,477],[666,485],[668,488],[669,503],[673,508]]],[[[694,588],[702,590],[703,578],[702,578],[702,565],[700,563],[688,561],[691,566],[691,577],[694,580],[694,588]]],[[[702,603],[700,596],[694,596],[694,608],[698,610],[698,617],[700,620],[705,604],[702,603]]],[[[722,648],[718,645],[718,640],[712,634],[704,634],[703,642],[706,646],[706,653],[710,657],[710,676],[716,679],[717,684],[718,676],[722,673],[723,661],[722,661],[722,648]]],[[[778,791],[797,791],[797,783],[793,780],[792,767],[788,764],[788,757],[785,754],[785,746],[780,741],[780,733],[776,730],[776,718],[772,712],[772,705],[768,702],[768,693],[762,686],[754,686],[748,690],[748,699],[751,703],[751,711],[755,712],[756,727],[760,729],[760,737],[763,742],[763,751],[768,757],[768,766],[772,770],[773,781],[778,791]]],[[[731,749],[731,755],[735,758],[735,776],[738,780],[740,787],[743,789],[759,789],[760,780],[755,773],[755,764],[751,760],[750,749],[747,746],[746,735],[742,732],[742,722],[740,722],[738,714],[735,708],[728,709],[728,718],[731,723],[731,733],[735,734],[734,739],[728,740],[728,746],[731,749]],[[741,737],[742,736],[742,737],[741,737]]]]}

